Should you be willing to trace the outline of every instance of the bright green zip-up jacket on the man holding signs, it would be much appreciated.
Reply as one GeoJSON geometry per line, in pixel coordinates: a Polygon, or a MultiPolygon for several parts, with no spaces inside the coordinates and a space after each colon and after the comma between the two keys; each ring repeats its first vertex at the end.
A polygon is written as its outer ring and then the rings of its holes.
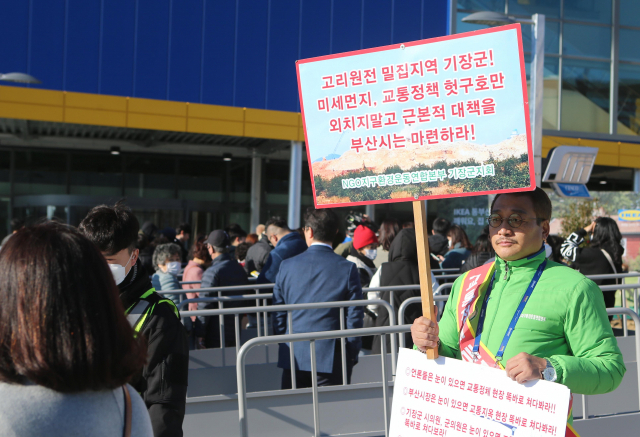
{"type": "MultiPolygon", "coordinates": [[[[482,332],[482,342],[494,355],[544,259],[544,250],[517,261],[496,257],[496,279],[482,332]]],[[[460,348],[456,304],[461,282],[462,277],[453,284],[440,320],[439,353],[457,359],[460,359],[460,348]]],[[[483,297],[471,319],[474,329],[482,301],[483,297]]],[[[611,392],[627,370],[609,324],[602,291],[581,273],[552,261],[547,261],[518,320],[505,349],[503,364],[520,352],[547,358],[556,369],[557,382],[577,394],[611,392]]]]}

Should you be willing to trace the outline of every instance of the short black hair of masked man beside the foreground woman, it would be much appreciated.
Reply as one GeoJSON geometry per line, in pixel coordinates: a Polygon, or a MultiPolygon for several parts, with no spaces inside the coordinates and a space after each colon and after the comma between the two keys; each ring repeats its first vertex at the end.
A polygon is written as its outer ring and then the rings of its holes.
{"type": "Polygon", "coordinates": [[[113,255],[123,249],[131,252],[136,248],[139,227],[131,208],[118,202],[113,206],[94,207],[78,228],[101,252],[113,255]]]}

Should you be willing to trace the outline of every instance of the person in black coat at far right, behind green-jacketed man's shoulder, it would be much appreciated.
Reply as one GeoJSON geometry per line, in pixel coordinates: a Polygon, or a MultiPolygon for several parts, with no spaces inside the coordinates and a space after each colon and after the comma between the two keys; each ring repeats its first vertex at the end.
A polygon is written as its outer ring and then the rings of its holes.
{"type": "MultiPolygon", "coordinates": [[[[620,244],[622,235],[615,220],[609,217],[598,217],[584,229],[578,229],[569,235],[560,253],[573,263],[572,267],[583,275],[603,275],[622,273],[622,254],[624,248],[620,244]],[[579,247],[584,237],[591,234],[590,247],[579,247]]],[[[617,279],[596,279],[598,285],[615,285],[617,279]]],[[[607,308],[613,308],[616,294],[612,291],[604,292],[604,303],[607,308]]]]}

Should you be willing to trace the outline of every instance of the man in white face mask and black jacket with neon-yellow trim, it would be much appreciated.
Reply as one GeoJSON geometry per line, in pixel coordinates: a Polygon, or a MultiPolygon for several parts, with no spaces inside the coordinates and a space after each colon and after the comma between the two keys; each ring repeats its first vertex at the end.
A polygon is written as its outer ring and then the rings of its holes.
{"type": "Polygon", "coordinates": [[[155,292],[136,248],[139,223],[122,203],[93,208],[79,226],[105,257],[133,330],[147,342],[142,374],[132,381],[144,400],[155,437],[182,436],[189,343],[178,308],[155,292]]]}

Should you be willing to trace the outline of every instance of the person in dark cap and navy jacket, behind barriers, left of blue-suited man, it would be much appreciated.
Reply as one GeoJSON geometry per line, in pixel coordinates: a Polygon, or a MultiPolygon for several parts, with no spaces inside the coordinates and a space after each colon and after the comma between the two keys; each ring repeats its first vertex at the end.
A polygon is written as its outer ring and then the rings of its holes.
{"type": "MultiPolygon", "coordinates": [[[[211,255],[211,267],[205,270],[202,275],[202,288],[211,287],[226,287],[230,285],[247,285],[249,280],[247,279],[247,273],[244,268],[238,264],[235,259],[231,258],[229,253],[229,247],[231,241],[229,235],[222,229],[217,229],[209,234],[207,237],[207,250],[211,255]]],[[[241,295],[243,291],[224,293],[225,296],[241,295]]],[[[202,293],[200,293],[202,296],[202,293]]],[[[218,293],[206,293],[203,297],[217,297],[218,293]]],[[[238,308],[246,306],[242,302],[225,302],[225,308],[238,308]]],[[[198,303],[198,309],[214,309],[218,308],[218,303],[200,302],[198,303]]],[[[203,317],[200,320],[205,327],[204,344],[206,347],[231,347],[235,346],[235,328],[233,315],[224,316],[225,321],[225,344],[220,344],[220,324],[218,323],[218,317],[203,317]]],[[[200,339],[198,339],[200,342],[200,339]]]]}

